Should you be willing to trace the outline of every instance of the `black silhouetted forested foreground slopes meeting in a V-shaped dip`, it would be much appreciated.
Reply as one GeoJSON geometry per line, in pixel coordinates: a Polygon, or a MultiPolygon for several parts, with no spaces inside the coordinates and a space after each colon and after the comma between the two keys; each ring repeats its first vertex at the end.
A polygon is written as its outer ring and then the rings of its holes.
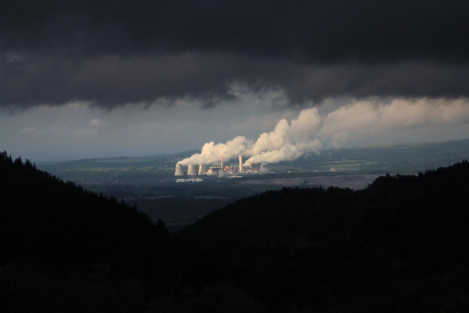
{"type": "Polygon", "coordinates": [[[468,312],[467,160],[283,188],[169,233],[0,154],[1,312],[468,312]]]}

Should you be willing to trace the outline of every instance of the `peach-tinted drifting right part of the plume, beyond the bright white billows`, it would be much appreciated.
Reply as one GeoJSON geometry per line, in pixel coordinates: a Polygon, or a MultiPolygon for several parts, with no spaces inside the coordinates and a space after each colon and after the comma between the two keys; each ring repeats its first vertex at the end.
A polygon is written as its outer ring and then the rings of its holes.
{"type": "Polygon", "coordinates": [[[323,117],[318,132],[322,142],[335,148],[363,137],[383,137],[388,133],[469,122],[469,100],[394,99],[389,104],[360,101],[323,117]]]}

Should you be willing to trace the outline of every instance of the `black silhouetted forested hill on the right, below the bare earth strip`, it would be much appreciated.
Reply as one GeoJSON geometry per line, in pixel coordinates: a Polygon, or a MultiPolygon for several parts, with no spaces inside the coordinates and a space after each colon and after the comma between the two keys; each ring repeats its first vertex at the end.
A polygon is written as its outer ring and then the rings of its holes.
{"type": "Polygon", "coordinates": [[[361,191],[265,191],[180,233],[285,312],[469,312],[468,177],[465,160],[361,191]]]}

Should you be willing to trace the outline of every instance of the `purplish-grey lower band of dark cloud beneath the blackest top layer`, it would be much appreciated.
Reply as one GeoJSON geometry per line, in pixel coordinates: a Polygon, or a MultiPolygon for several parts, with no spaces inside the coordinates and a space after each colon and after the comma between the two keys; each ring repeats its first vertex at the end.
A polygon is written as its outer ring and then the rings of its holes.
{"type": "Polygon", "coordinates": [[[334,97],[467,97],[469,63],[395,61],[316,64],[230,53],[105,55],[79,60],[0,54],[0,110],[78,100],[103,109],[171,105],[184,98],[215,107],[236,98],[232,86],[280,88],[291,104],[334,97]],[[13,60],[13,59],[12,59],[13,60]]]}

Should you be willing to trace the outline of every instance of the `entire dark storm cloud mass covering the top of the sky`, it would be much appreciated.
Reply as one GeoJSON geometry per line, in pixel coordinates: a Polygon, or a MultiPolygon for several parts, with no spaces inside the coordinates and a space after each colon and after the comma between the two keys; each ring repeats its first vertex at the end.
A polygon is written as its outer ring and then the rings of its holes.
{"type": "Polygon", "coordinates": [[[468,95],[467,1],[2,1],[0,104],[468,95]]]}

